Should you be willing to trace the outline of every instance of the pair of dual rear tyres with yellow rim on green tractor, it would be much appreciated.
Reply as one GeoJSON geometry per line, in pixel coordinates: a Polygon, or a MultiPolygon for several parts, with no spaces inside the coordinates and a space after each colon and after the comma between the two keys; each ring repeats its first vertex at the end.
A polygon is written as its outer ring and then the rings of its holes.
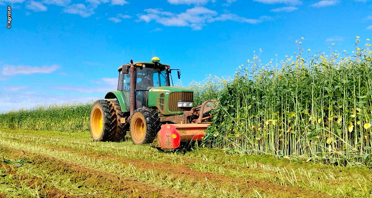
{"type": "Polygon", "coordinates": [[[125,127],[120,123],[123,113],[118,101],[97,100],[90,112],[90,133],[94,141],[120,141],[125,127]]]}

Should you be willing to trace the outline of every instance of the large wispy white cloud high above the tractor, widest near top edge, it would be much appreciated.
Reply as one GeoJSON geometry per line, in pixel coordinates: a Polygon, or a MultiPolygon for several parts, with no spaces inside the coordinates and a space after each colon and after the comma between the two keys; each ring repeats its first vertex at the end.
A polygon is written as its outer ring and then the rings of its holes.
{"type": "Polygon", "coordinates": [[[164,12],[161,9],[145,9],[147,14],[139,15],[139,20],[151,22],[155,21],[164,26],[179,26],[179,27],[191,27],[193,30],[201,30],[203,26],[207,23],[212,23],[215,21],[235,21],[242,23],[260,23],[264,19],[247,19],[245,17],[240,17],[237,14],[221,14],[214,10],[209,10],[205,7],[194,7],[187,9],[185,12],[180,14],[175,14],[172,12],[164,12]]]}

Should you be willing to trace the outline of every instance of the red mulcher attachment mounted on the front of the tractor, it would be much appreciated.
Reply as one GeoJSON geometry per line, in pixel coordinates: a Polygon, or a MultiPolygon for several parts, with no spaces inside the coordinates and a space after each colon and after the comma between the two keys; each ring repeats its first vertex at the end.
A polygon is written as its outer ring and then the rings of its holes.
{"type": "Polygon", "coordinates": [[[172,150],[180,146],[181,142],[202,140],[209,124],[164,124],[158,132],[156,147],[172,150]]]}

